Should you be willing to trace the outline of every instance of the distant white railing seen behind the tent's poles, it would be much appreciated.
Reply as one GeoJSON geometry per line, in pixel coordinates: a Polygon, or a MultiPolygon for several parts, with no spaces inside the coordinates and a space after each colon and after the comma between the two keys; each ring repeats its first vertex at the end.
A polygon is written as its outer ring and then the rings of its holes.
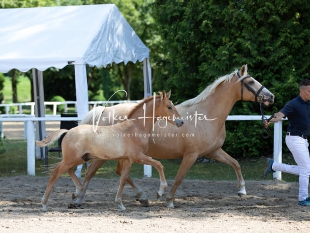
{"type": "MultiPolygon", "coordinates": [[[[94,105],[101,106],[112,106],[118,103],[127,103],[127,102],[139,102],[139,100],[109,100],[109,101],[89,101],[89,108],[91,109],[94,105]]],[[[57,115],[57,106],[64,105],[64,112],[67,112],[68,105],[74,105],[75,111],[77,112],[77,101],[45,101],[44,106],[52,106],[53,115],[57,115]]],[[[29,108],[30,106],[30,115],[34,115],[34,102],[24,102],[24,103],[1,103],[0,107],[4,107],[5,114],[10,114],[11,107],[17,107],[16,114],[23,114],[23,110],[29,108]]],[[[29,109],[28,109],[29,111],[29,109]]]]}

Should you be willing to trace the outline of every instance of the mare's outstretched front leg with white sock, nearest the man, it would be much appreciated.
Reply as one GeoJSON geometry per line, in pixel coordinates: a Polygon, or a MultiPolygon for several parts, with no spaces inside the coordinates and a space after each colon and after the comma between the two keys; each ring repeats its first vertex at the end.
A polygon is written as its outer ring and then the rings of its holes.
{"type": "Polygon", "coordinates": [[[238,196],[242,198],[245,195],[247,195],[246,183],[243,179],[241,167],[237,160],[233,159],[229,154],[227,154],[221,148],[211,152],[210,154],[207,155],[207,157],[210,159],[216,159],[219,162],[232,166],[237,175],[237,185],[239,188],[238,196]]]}

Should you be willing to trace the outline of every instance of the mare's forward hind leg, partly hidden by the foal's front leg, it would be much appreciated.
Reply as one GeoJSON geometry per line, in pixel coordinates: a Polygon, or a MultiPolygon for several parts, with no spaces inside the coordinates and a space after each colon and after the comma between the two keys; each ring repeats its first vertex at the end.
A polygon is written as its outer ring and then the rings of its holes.
{"type": "MultiPolygon", "coordinates": [[[[121,159],[117,161],[116,166],[116,173],[121,176],[123,174],[124,166],[126,166],[126,159],[121,159]]],[[[136,191],[137,198],[142,206],[147,207],[150,205],[149,200],[147,199],[146,194],[144,193],[144,190],[135,183],[131,177],[128,175],[127,177],[127,183],[136,191]]]]}

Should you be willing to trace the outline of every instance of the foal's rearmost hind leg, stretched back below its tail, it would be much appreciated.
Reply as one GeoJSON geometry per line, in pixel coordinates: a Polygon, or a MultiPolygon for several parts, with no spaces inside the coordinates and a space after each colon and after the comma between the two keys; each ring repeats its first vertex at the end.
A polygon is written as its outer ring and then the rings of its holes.
{"type": "Polygon", "coordinates": [[[47,211],[47,200],[49,197],[49,194],[52,190],[52,187],[54,183],[59,179],[59,177],[69,169],[70,167],[65,165],[63,161],[57,165],[50,173],[49,181],[47,183],[47,188],[45,190],[45,193],[42,197],[42,210],[47,211]]]}

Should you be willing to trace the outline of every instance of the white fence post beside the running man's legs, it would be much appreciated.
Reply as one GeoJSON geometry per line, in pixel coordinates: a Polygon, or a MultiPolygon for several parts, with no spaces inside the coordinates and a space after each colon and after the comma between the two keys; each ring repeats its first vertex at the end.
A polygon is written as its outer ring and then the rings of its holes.
{"type": "MultiPolygon", "coordinates": [[[[282,123],[282,120],[274,123],[273,159],[278,163],[282,163],[282,123]]],[[[282,180],[282,173],[276,171],[273,178],[282,180]]]]}

